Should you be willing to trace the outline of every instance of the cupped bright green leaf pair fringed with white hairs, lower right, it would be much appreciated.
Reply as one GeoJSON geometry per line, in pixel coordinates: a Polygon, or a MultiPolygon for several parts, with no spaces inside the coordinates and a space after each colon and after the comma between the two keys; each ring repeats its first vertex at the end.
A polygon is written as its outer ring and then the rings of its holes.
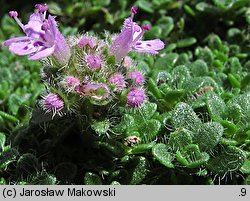
{"type": "Polygon", "coordinates": [[[176,159],[187,168],[197,168],[209,160],[206,152],[200,152],[198,145],[187,145],[183,150],[176,152],[176,159]]]}

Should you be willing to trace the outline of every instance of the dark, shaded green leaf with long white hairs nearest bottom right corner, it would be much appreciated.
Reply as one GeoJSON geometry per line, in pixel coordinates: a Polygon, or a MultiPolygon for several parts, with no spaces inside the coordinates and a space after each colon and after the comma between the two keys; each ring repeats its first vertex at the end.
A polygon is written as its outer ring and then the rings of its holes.
{"type": "Polygon", "coordinates": [[[218,153],[208,161],[207,168],[220,176],[235,172],[245,161],[244,152],[234,146],[221,146],[218,153]]]}

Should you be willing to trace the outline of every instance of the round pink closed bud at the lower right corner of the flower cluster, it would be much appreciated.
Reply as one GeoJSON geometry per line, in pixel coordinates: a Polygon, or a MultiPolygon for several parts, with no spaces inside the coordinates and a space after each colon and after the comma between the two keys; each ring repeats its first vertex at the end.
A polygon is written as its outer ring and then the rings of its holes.
{"type": "Polygon", "coordinates": [[[144,103],[144,101],[146,99],[146,95],[143,92],[143,90],[133,88],[128,93],[127,98],[128,98],[127,104],[129,106],[131,106],[131,107],[139,107],[144,103]]]}

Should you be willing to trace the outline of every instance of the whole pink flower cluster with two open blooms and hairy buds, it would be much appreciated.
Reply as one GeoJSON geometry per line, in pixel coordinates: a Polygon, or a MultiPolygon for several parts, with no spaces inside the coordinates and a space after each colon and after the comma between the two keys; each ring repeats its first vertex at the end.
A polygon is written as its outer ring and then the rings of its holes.
{"type": "Polygon", "coordinates": [[[111,44],[89,34],[66,40],[55,18],[47,17],[47,11],[46,4],[35,5],[35,12],[26,25],[18,19],[16,11],[10,11],[10,17],[16,20],[25,36],[3,43],[10,52],[29,55],[28,59],[41,60],[44,64],[42,77],[47,91],[39,103],[45,112],[54,117],[77,111],[85,100],[106,105],[119,97],[122,99],[124,94],[128,107],[140,107],[145,102],[144,75],[127,55],[130,51],[157,54],[164,43],[160,39],[142,41],[150,27],[140,27],[133,22],[136,6],[111,44]]]}

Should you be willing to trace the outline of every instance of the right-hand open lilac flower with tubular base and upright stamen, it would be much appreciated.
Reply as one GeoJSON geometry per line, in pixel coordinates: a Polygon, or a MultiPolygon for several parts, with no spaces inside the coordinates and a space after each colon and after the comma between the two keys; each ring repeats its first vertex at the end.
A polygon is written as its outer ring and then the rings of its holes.
{"type": "Polygon", "coordinates": [[[110,47],[110,53],[115,55],[117,62],[120,62],[130,51],[157,54],[158,50],[165,46],[160,39],[142,41],[142,36],[150,30],[150,26],[143,25],[141,28],[133,22],[137,7],[132,7],[131,12],[131,17],[125,19],[121,33],[112,41],[110,47]]]}

